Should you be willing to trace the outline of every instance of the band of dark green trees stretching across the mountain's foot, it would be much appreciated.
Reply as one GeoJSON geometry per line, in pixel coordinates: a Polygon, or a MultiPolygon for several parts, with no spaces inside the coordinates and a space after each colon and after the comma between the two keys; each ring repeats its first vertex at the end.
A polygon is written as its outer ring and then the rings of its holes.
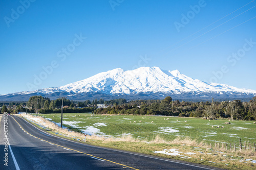
{"type": "MultiPolygon", "coordinates": [[[[60,113],[62,99],[50,100],[42,96],[31,96],[26,103],[20,103],[15,109],[2,106],[1,112],[32,112],[36,109],[40,113],[60,113]]],[[[93,101],[86,100],[70,101],[63,99],[63,112],[81,113],[94,112],[95,114],[140,114],[140,115],[168,115],[168,116],[189,116],[204,117],[207,119],[231,118],[256,120],[256,96],[249,102],[233,101],[214,101],[211,102],[180,102],[172,100],[167,96],[164,100],[134,100],[127,102],[125,99],[115,99],[104,101],[103,99],[95,99],[93,101]],[[97,108],[97,106],[105,105],[105,108],[97,108]]]]}

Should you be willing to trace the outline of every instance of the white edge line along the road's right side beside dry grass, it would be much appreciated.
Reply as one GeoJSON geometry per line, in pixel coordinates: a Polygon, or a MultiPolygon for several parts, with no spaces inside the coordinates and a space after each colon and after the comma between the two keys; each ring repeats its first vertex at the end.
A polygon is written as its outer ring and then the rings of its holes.
{"type": "MultiPolygon", "coordinates": [[[[20,117],[22,118],[23,120],[25,120],[23,117],[20,117]]],[[[25,122],[27,122],[25,120],[25,122]]],[[[27,122],[28,123],[28,122],[27,122]]],[[[30,123],[29,123],[30,124],[30,123]]],[[[33,126],[34,128],[40,130],[41,132],[44,132],[46,133],[45,131],[42,131],[41,129],[37,128],[36,126],[30,124],[31,126],[33,126]]],[[[50,133],[46,133],[48,135],[51,135],[51,136],[54,136],[50,133]]],[[[74,142],[74,143],[77,143],[75,141],[71,141],[71,140],[67,140],[65,138],[61,138],[61,137],[58,137],[58,136],[54,136],[54,137],[57,137],[57,138],[60,138],[62,140],[66,140],[66,141],[69,141],[69,142],[74,142]]],[[[86,143],[78,143],[78,144],[84,144],[84,145],[87,145],[86,143]]],[[[139,155],[139,154],[135,154],[135,153],[129,153],[129,152],[125,152],[125,151],[117,151],[117,150],[111,150],[111,149],[108,149],[108,148],[100,148],[100,147],[97,147],[97,146],[94,146],[94,145],[89,145],[90,147],[92,148],[99,148],[99,149],[105,149],[105,150],[110,150],[110,151],[116,151],[116,152],[121,152],[121,153],[126,153],[126,154],[131,154],[131,155],[137,155],[137,156],[142,156],[142,157],[146,157],[146,158],[152,158],[152,159],[157,159],[157,160],[162,160],[162,161],[166,161],[166,162],[173,162],[173,163],[178,163],[178,164],[182,164],[182,165],[187,165],[187,166],[194,166],[194,167],[199,167],[199,168],[203,168],[203,169],[209,169],[209,170],[215,170],[215,169],[211,169],[211,168],[207,168],[207,167],[202,167],[202,166],[197,166],[197,165],[191,165],[191,164],[188,164],[188,163],[181,163],[181,162],[176,162],[176,161],[170,161],[170,160],[165,160],[165,159],[160,159],[160,158],[154,158],[154,157],[150,157],[150,156],[146,156],[146,155],[139,155]]],[[[207,165],[206,165],[207,166],[207,165]]]]}

